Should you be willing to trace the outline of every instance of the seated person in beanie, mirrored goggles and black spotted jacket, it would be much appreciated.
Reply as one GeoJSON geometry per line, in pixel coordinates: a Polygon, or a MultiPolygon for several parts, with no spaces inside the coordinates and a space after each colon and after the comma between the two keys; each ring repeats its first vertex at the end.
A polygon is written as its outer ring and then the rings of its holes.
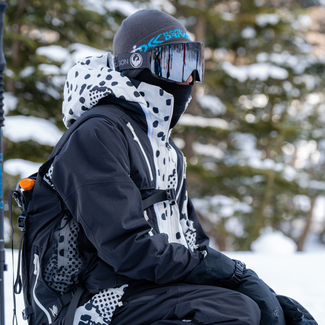
{"type": "Polygon", "coordinates": [[[78,124],[44,175],[68,208],[51,235],[45,282],[60,295],[85,286],[78,325],[285,324],[286,302],[208,246],[170,137],[203,80],[204,45],[146,9],[123,20],[113,48],[114,58],[79,59],[68,73],[66,127],[91,112],[107,118],[78,124]]]}

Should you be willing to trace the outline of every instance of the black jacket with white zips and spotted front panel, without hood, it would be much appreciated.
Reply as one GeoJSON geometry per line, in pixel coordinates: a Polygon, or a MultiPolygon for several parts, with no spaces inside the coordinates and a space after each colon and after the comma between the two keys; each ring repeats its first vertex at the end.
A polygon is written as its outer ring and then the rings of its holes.
{"type": "Polygon", "coordinates": [[[157,138],[159,155],[164,156],[164,163],[170,160],[168,184],[174,179],[178,199],[171,205],[168,201],[157,203],[144,215],[142,200],[158,188],[158,177],[160,188],[165,181],[163,167],[155,162],[157,150],[153,154],[145,114],[140,105],[113,96],[98,105],[92,113],[108,110],[110,122],[91,118],[80,125],[55,158],[51,177],[82,226],[80,280],[90,292],[134,279],[158,284],[180,281],[202,259],[199,252],[192,250],[209,242],[187,195],[183,154],[171,138],[157,138]],[[152,180],[139,142],[149,161],[152,180]],[[177,171],[170,168],[173,165],[177,171]],[[187,243],[182,242],[185,236],[187,243]]]}

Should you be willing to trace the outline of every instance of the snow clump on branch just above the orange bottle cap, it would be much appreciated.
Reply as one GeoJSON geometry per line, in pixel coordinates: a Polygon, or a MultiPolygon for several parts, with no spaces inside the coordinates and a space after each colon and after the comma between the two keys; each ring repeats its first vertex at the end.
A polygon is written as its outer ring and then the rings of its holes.
{"type": "Polygon", "coordinates": [[[26,178],[38,171],[41,162],[31,162],[24,159],[8,159],[3,163],[3,170],[10,175],[20,175],[20,178],[26,178]]]}

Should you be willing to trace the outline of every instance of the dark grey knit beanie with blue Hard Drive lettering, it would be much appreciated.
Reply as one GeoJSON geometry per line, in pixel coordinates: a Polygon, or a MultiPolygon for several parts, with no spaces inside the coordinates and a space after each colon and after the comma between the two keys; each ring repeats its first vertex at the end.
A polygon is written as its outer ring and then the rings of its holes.
{"type": "MultiPolygon", "coordinates": [[[[139,10],[124,19],[113,40],[114,56],[130,52],[147,52],[160,44],[188,42],[186,28],[173,16],[155,9],[139,10]]],[[[124,70],[135,78],[143,69],[124,70]]]]}

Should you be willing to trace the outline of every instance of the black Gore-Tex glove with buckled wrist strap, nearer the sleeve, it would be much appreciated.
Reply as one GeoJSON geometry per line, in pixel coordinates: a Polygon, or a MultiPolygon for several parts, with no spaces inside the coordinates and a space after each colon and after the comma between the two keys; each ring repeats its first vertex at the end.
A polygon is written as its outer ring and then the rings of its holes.
{"type": "Polygon", "coordinates": [[[214,285],[243,293],[261,309],[263,325],[285,325],[283,310],[275,294],[254,271],[211,247],[201,246],[196,251],[204,258],[184,279],[185,283],[214,285]]]}

